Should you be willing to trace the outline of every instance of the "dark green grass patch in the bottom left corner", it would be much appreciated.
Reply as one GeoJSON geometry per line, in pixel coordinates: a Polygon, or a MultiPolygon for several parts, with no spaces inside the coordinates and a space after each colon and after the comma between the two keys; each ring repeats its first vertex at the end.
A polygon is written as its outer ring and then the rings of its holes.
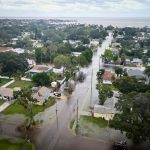
{"type": "Polygon", "coordinates": [[[25,140],[14,142],[9,139],[0,139],[1,150],[33,150],[32,144],[25,140]]]}

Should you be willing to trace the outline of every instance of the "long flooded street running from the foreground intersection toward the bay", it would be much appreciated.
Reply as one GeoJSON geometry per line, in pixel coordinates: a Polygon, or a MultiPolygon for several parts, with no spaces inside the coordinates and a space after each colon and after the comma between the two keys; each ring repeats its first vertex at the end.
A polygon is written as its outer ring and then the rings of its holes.
{"type": "MultiPolygon", "coordinates": [[[[82,68],[81,71],[86,73],[86,79],[83,83],[78,83],[74,92],[68,101],[66,101],[63,109],[59,111],[56,120],[51,125],[46,125],[32,135],[36,150],[106,150],[108,144],[105,141],[91,140],[74,136],[69,131],[69,123],[72,115],[75,113],[77,99],[79,103],[79,111],[88,110],[89,106],[93,106],[98,100],[96,90],[96,73],[99,68],[100,56],[105,49],[110,45],[112,35],[103,42],[98,51],[94,53],[92,63],[87,68],[82,68]],[[91,79],[92,79],[92,95],[91,95],[91,79]]],[[[100,63],[102,64],[102,63],[100,63]]]]}

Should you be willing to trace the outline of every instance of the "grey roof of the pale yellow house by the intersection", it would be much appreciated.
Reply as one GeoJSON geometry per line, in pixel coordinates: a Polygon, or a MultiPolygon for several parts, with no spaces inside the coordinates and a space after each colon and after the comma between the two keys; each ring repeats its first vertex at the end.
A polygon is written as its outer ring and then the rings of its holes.
{"type": "Polygon", "coordinates": [[[112,108],[108,108],[102,105],[94,105],[94,113],[114,114],[116,111],[112,108]]]}

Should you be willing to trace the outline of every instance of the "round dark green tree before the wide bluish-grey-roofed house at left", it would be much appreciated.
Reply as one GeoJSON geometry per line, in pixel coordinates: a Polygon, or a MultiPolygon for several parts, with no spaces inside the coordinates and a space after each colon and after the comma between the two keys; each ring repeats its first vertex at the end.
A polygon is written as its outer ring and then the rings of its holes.
{"type": "Polygon", "coordinates": [[[49,76],[45,72],[33,75],[32,79],[37,86],[46,86],[50,84],[49,76]]]}

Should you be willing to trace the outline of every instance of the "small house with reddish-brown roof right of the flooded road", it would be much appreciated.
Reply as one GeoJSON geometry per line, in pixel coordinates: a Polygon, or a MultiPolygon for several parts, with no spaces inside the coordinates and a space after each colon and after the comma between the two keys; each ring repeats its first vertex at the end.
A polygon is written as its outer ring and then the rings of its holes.
{"type": "Polygon", "coordinates": [[[103,83],[104,84],[112,84],[113,73],[111,71],[105,71],[103,74],[103,83]]]}

